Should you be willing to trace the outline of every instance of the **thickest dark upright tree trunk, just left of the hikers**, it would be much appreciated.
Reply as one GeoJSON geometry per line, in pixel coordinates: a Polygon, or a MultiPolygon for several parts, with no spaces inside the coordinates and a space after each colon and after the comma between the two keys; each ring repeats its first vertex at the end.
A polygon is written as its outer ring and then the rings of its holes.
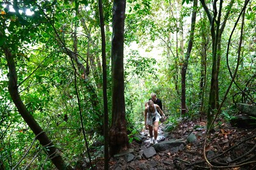
{"type": "Polygon", "coordinates": [[[112,34],[112,126],[110,155],[128,148],[126,108],[124,103],[124,19],[126,0],[113,1],[112,34]]]}

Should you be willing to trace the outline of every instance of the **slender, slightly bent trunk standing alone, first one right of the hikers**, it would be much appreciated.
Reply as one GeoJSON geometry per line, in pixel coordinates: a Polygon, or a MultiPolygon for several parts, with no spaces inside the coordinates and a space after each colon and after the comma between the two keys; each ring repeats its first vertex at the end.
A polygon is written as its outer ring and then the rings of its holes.
{"type": "Polygon", "coordinates": [[[188,68],[188,59],[190,58],[190,53],[193,46],[193,40],[194,40],[194,29],[196,25],[196,11],[197,11],[197,0],[193,1],[193,13],[191,18],[191,30],[190,30],[190,39],[188,40],[188,49],[186,52],[186,56],[183,61],[182,65],[182,94],[181,94],[181,109],[182,109],[182,115],[184,115],[187,112],[186,109],[186,73],[188,68]]]}

